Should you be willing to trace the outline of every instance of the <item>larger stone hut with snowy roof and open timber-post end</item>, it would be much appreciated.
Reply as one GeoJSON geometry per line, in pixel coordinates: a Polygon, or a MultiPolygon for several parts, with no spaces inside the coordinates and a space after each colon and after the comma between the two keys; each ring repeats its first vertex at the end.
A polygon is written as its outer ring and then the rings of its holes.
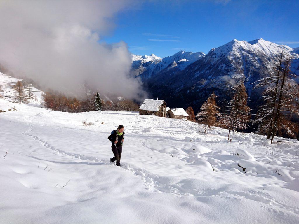
{"type": "Polygon", "coordinates": [[[166,117],[166,103],[164,100],[145,99],[139,107],[139,115],[154,114],[158,117],[166,117]]]}

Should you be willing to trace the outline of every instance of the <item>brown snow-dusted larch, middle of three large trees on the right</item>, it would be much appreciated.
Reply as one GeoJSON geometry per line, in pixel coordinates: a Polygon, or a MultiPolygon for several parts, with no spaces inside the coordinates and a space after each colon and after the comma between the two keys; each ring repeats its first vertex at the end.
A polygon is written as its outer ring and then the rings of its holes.
{"type": "Polygon", "coordinates": [[[236,129],[247,128],[250,122],[250,109],[247,105],[247,93],[243,82],[237,83],[233,87],[233,96],[227,106],[228,113],[223,114],[220,121],[228,128],[228,142],[231,142],[236,129]]]}

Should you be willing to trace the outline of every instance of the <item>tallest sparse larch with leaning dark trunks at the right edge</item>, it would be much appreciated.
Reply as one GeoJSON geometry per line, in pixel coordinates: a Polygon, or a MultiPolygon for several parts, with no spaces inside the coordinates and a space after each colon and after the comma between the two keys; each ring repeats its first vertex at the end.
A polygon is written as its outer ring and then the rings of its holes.
{"type": "Polygon", "coordinates": [[[296,124],[291,119],[299,114],[299,85],[294,81],[296,75],[290,74],[291,59],[282,50],[270,75],[254,82],[257,83],[254,88],[265,88],[264,104],[258,107],[254,120],[258,124],[257,133],[266,134],[271,143],[277,133],[296,135],[296,124]]]}

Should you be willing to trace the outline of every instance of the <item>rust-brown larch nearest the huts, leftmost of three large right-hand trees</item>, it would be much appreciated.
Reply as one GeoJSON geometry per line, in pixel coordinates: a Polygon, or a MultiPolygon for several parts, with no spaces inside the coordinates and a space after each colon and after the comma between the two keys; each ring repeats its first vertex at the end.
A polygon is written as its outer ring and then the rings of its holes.
{"type": "Polygon", "coordinates": [[[207,101],[201,106],[200,112],[197,113],[199,123],[205,125],[205,133],[207,131],[207,126],[210,128],[211,125],[215,125],[217,116],[219,115],[218,106],[216,105],[217,96],[213,92],[207,99],[207,101]]]}

